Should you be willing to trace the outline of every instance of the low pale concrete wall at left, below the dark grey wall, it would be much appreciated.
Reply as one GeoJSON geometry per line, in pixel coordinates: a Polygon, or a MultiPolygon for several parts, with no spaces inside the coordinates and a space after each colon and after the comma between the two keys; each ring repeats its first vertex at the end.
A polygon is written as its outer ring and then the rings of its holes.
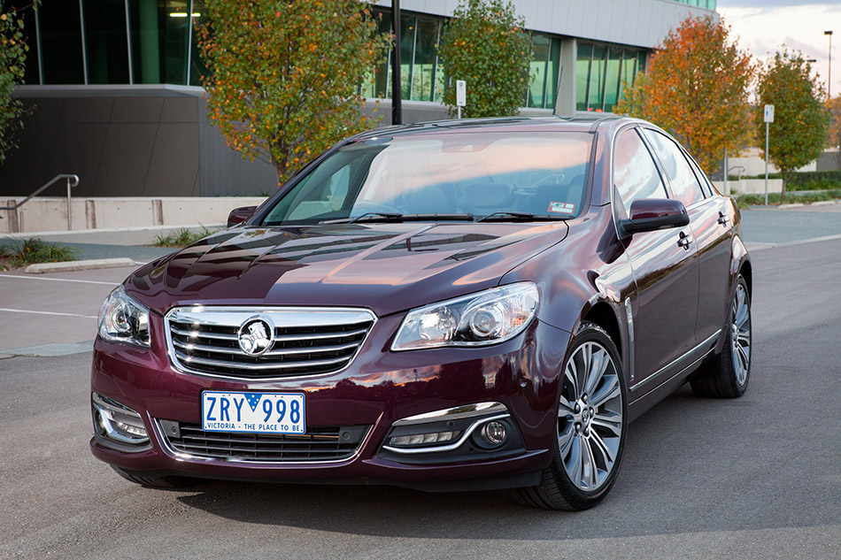
{"type": "MultiPolygon", "coordinates": [[[[22,199],[0,199],[12,206],[22,199]]],[[[73,198],[72,230],[120,229],[143,226],[211,226],[224,224],[228,213],[241,206],[257,206],[264,196],[170,196],[158,198],[73,198]]],[[[0,211],[0,234],[66,231],[66,198],[33,198],[17,211],[0,211]]]]}

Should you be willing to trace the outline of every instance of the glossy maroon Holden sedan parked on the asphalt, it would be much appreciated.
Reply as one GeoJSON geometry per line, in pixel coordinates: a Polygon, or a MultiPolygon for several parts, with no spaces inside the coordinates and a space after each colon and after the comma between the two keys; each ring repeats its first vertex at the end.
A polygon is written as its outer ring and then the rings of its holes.
{"type": "Polygon", "coordinates": [[[737,207],[644,121],[359,134],[231,221],[100,312],[90,447],[144,486],[517,488],[581,510],[633,418],[687,380],[747,387],[737,207]]]}

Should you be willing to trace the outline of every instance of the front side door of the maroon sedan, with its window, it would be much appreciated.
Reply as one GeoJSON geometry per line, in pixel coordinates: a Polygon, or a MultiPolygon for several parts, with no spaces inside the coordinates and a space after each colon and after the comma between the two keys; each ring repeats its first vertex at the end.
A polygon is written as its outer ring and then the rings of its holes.
{"type": "MultiPolygon", "coordinates": [[[[623,219],[631,203],[667,198],[665,181],[637,127],[626,127],[613,143],[613,215],[623,219]]],[[[696,344],[698,262],[691,226],[635,234],[623,242],[637,283],[631,302],[634,368],[630,388],[656,387],[670,377],[696,344]]]]}

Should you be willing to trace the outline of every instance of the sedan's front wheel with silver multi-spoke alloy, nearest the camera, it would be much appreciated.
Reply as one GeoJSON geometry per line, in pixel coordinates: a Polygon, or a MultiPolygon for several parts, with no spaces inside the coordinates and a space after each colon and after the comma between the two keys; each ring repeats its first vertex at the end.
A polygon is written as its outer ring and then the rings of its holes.
{"type": "Polygon", "coordinates": [[[613,487],[628,432],[625,375],[619,352],[603,328],[584,322],[578,329],[559,385],[552,464],[542,473],[539,485],[518,488],[516,497],[546,510],[586,510],[601,502],[613,487]],[[586,372],[593,373],[592,377],[578,373],[577,379],[572,379],[576,377],[570,375],[573,370],[590,370],[591,364],[604,364],[604,360],[608,361],[601,374],[592,370],[586,372]]]}

